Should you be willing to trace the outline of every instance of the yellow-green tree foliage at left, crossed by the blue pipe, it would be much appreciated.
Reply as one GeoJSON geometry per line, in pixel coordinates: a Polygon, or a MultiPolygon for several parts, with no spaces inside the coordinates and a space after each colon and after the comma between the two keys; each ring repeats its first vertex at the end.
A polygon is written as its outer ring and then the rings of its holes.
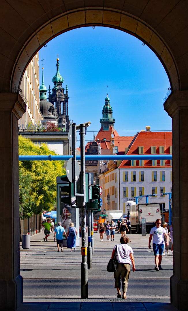
{"type": "MultiPolygon", "coordinates": [[[[19,155],[56,155],[48,146],[19,136],[19,155]]],[[[66,174],[63,161],[19,161],[20,216],[50,211],[56,203],[56,177],[66,174]]]]}

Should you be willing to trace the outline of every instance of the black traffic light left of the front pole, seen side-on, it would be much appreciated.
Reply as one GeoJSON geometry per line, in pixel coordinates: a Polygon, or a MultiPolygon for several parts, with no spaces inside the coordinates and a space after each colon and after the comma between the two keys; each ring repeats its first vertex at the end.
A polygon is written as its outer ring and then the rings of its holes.
{"type": "Polygon", "coordinates": [[[61,180],[67,182],[61,186],[61,202],[66,203],[72,208],[76,208],[76,197],[74,196],[74,184],[68,180],[67,175],[62,175],[61,180]]]}

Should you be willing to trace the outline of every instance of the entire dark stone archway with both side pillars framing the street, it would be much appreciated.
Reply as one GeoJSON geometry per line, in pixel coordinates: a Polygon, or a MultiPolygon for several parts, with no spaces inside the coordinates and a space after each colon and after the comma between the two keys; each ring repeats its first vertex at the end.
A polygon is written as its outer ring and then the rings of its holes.
{"type": "Polygon", "coordinates": [[[169,77],[172,94],[164,104],[173,124],[174,275],[171,300],[180,310],[188,305],[188,207],[185,193],[188,151],[188,45],[185,0],[2,0],[0,50],[0,115],[2,247],[0,291],[2,310],[22,301],[19,274],[18,124],[25,103],[17,93],[23,72],[34,54],[55,36],[86,26],[106,26],[141,39],[158,56],[169,77]],[[7,224],[9,229],[7,230],[7,224]],[[9,247],[6,241],[9,241],[9,247]],[[10,247],[11,245],[11,247],[10,247]],[[12,299],[10,299],[10,296],[12,299]]]}

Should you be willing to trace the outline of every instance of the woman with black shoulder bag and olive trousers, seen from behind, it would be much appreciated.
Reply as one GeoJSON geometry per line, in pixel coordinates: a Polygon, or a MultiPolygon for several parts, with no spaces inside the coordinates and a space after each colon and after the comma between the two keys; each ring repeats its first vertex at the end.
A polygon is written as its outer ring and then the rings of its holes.
{"type": "Polygon", "coordinates": [[[122,299],[126,298],[126,291],[129,281],[129,274],[130,274],[130,265],[133,265],[133,272],[135,271],[135,264],[134,264],[134,257],[133,257],[133,250],[132,248],[127,245],[129,243],[129,238],[127,236],[122,236],[120,239],[121,244],[115,245],[112,257],[116,257],[117,259],[117,267],[116,271],[114,272],[114,279],[115,279],[115,288],[117,288],[117,298],[121,298],[121,282],[122,282],[122,290],[123,295],[122,299]],[[115,256],[116,254],[116,256],[115,256]]]}

